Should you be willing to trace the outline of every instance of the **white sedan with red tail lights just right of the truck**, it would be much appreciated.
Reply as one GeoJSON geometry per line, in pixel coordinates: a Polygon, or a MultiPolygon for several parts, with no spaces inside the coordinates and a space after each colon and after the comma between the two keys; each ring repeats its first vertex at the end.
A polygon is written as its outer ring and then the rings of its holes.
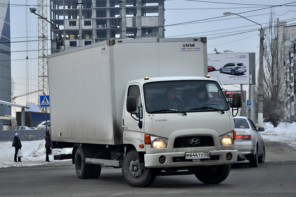
{"type": "Polygon", "coordinates": [[[252,120],[244,116],[234,117],[234,127],[236,131],[234,149],[237,149],[237,160],[248,159],[250,167],[258,167],[258,163],[265,161],[264,140],[259,133],[264,131],[264,127],[257,129],[252,120]]]}

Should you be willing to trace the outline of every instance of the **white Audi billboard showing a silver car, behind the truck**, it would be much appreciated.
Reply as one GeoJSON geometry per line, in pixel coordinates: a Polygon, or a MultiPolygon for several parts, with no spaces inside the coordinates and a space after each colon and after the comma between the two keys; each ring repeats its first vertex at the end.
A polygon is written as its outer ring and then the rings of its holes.
{"type": "Polygon", "coordinates": [[[221,84],[249,84],[249,53],[208,53],[208,74],[221,84]]]}

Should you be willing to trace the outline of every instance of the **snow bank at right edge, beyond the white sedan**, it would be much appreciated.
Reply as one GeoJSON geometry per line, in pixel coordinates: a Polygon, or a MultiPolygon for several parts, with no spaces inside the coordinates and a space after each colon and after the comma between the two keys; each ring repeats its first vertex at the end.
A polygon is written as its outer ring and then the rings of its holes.
{"type": "Polygon", "coordinates": [[[285,142],[296,148],[296,122],[281,122],[276,128],[271,123],[265,123],[263,127],[265,131],[260,132],[260,135],[264,140],[285,142]]]}

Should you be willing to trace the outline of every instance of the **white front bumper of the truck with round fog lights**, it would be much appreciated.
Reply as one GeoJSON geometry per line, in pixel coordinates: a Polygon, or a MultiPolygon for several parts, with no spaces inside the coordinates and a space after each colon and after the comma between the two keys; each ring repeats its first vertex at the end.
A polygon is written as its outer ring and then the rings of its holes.
{"type": "Polygon", "coordinates": [[[199,165],[223,165],[223,164],[234,164],[237,161],[237,150],[218,150],[218,151],[215,150],[215,151],[209,151],[209,152],[210,152],[210,156],[213,156],[211,158],[215,160],[188,159],[188,161],[186,161],[185,152],[144,154],[145,167],[162,168],[162,167],[183,167],[183,166],[199,166],[199,165]],[[232,158],[230,160],[226,159],[227,153],[231,153],[232,155],[232,158]],[[163,164],[159,162],[159,157],[161,156],[165,157],[165,162],[163,164]]]}

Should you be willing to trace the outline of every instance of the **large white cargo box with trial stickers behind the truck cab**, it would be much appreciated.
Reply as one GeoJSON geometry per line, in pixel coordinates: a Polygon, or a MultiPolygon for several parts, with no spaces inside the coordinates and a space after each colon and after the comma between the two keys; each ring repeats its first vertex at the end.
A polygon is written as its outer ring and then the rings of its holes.
{"type": "Polygon", "coordinates": [[[52,141],[123,144],[126,85],[207,74],[206,38],[106,40],[48,56],[52,141]]]}

